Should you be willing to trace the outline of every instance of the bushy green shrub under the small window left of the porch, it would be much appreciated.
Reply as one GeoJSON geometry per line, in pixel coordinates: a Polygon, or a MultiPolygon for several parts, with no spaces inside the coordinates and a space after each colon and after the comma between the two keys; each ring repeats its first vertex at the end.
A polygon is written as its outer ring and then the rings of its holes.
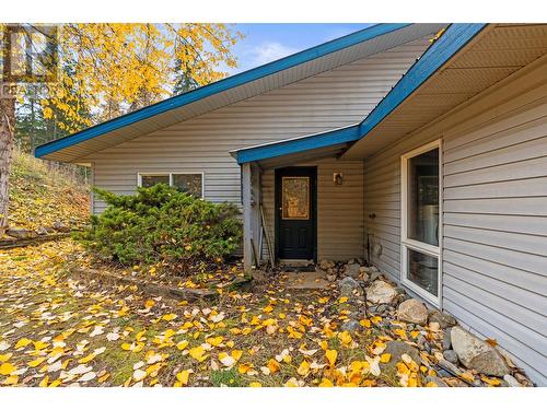
{"type": "Polygon", "coordinates": [[[163,184],[138,188],[135,196],[95,192],[109,207],[92,218],[79,238],[102,259],[187,268],[221,262],[240,244],[241,223],[233,204],[214,204],[163,184]]]}

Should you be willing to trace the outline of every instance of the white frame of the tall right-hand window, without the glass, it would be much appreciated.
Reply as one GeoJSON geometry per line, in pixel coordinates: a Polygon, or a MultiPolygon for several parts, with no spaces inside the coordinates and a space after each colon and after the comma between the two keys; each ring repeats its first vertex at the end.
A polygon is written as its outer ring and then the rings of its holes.
{"type": "Polygon", "coordinates": [[[443,177],[442,177],[442,139],[438,139],[428,144],[424,144],[416,150],[407,152],[400,156],[400,282],[423,297],[434,306],[441,307],[442,303],[442,192],[443,192],[443,177]],[[420,155],[433,149],[439,150],[439,246],[433,246],[408,237],[408,160],[420,155]],[[438,296],[429,293],[408,279],[408,249],[419,251],[437,258],[438,261],[438,296]]]}

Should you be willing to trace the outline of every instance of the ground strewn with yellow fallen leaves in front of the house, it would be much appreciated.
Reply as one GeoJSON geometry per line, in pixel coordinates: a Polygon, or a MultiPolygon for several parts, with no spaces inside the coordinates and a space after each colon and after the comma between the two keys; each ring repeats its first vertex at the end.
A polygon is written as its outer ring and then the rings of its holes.
{"type": "Polygon", "coordinates": [[[386,330],[380,317],[340,331],[348,311],[335,289],[291,294],[281,277],[261,292],[191,304],[79,280],[68,261],[89,262],[71,241],[0,251],[1,385],[434,386],[432,356],[421,352],[418,365],[384,352],[419,331],[386,330]]]}

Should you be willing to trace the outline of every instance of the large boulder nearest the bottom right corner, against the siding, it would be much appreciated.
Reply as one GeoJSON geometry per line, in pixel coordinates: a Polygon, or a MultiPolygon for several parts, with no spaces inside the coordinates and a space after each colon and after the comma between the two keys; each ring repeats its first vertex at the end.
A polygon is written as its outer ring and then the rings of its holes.
{"type": "Polygon", "coordinates": [[[467,368],[498,377],[510,373],[500,352],[459,326],[451,329],[451,340],[457,358],[467,368]]]}

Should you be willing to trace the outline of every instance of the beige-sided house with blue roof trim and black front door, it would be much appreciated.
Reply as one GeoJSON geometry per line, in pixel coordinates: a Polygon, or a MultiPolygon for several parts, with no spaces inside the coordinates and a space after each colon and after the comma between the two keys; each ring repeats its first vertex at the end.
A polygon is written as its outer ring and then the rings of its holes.
{"type": "Polygon", "coordinates": [[[375,25],[36,156],[117,194],[164,181],[241,204],[246,269],[364,258],[547,385],[547,25],[431,43],[443,27],[375,25]]]}

